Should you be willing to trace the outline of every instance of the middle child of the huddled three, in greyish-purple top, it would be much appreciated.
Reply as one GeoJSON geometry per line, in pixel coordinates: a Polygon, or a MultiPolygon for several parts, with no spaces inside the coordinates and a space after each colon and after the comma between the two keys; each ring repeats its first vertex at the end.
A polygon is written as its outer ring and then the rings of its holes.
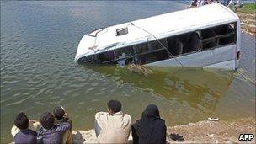
{"type": "Polygon", "coordinates": [[[40,122],[42,126],[40,127],[40,131],[38,132],[37,136],[38,143],[61,143],[63,134],[70,129],[70,124],[67,122],[62,122],[58,125],[54,124],[55,117],[50,112],[45,112],[42,114],[40,117],[40,122]]]}

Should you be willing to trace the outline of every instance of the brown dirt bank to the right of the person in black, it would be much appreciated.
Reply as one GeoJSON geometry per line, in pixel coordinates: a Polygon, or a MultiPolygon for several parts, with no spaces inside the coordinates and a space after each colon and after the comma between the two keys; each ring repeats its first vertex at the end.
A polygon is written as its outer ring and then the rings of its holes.
{"type": "MultiPolygon", "coordinates": [[[[227,121],[200,121],[189,125],[176,125],[168,128],[168,134],[176,133],[183,136],[184,142],[195,143],[242,143],[238,141],[240,134],[254,134],[255,119],[227,121]]],[[[169,138],[168,142],[174,141],[169,138]]],[[[249,143],[255,143],[248,141],[249,143]]]]}

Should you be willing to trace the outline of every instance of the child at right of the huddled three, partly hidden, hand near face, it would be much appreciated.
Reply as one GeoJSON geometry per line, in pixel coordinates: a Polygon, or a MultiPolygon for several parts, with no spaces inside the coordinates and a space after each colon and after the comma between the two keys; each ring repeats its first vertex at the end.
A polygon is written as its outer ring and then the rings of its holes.
{"type": "Polygon", "coordinates": [[[70,125],[69,131],[66,131],[62,136],[62,143],[72,143],[72,120],[68,118],[67,112],[61,106],[53,109],[53,115],[55,116],[55,124],[61,125],[63,122],[67,122],[70,125]]]}

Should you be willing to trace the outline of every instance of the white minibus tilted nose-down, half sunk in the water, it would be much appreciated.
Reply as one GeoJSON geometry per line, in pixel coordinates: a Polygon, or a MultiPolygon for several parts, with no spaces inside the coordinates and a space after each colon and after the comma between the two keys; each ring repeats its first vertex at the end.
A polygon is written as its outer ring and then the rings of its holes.
{"type": "Polygon", "coordinates": [[[75,61],[235,70],[240,46],[237,14],[213,3],[97,29],[83,36],[75,61]]]}

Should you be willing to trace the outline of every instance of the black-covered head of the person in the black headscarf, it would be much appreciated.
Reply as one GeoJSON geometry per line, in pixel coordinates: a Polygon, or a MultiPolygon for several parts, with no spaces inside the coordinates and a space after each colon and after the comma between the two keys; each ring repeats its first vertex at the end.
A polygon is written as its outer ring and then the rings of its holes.
{"type": "Polygon", "coordinates": [[[159,109],[155,104],[147,105],[147,108],[143,111],[142,117],[147,118],[160,118],[159,109]]]}

